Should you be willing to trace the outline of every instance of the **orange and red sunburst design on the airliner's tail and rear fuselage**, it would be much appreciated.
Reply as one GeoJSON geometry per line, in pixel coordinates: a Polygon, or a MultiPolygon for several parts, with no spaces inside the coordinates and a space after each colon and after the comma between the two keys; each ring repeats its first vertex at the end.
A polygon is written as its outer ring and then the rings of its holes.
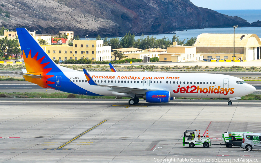
{"type": "MultiPolygon", "coordinates": [[[[49,62],[41,64],[41,62],[44,60],[45,56],[43,56],[42,58],[40,58],[38,60],[37,60],[37,56],[38,56],[38,52],[32,58],[32,54],[31,54],[31,50],[30,50],[28,57],[26,57],[26,55],[23,51],[23,59],[24,59],[24,63],[26,66],[26,71],[27,71],[26,74],[41,75],[43,77],[42,78],[32,78],[29,76],[23,76],[23,77],[25,78],[26,81],[35,83],[35,84],[39,85],[40,87],[52,88],[52,87],[48,86],[48,84],[54,84],[54,82],[47,81],[47,79],[54,76],[54,75],[47,75],[47,73],[50,72],[52,69],[44,68],[46,65],[49,64],[49,62]]],[[[52,89],[54,89],[54,88],[52,88],[52,89]]]]}

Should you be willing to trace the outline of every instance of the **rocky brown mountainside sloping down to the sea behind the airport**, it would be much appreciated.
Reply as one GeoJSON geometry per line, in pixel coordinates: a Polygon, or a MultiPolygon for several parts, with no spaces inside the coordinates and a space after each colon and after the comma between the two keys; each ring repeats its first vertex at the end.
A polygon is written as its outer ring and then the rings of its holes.
{"type": "Polygon", "coordinates": [[[74,31],[84,37],[160,34],[180,29],[251,26],[239,17],[230,17],[200,8],[189,0],[0,0],[10,17],[0,15],[9,29],[25,27],[41,34],[74,31]]]}

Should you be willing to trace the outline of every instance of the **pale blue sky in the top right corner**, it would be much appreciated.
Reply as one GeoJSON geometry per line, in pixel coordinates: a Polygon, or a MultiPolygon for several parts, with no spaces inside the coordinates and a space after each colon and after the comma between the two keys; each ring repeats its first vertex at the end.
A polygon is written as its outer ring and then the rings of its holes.
{"type": "Polygon", "coordinates": [[[198,7],[211,10],[260,10],[260,0],[190,0],[198,7]]]}

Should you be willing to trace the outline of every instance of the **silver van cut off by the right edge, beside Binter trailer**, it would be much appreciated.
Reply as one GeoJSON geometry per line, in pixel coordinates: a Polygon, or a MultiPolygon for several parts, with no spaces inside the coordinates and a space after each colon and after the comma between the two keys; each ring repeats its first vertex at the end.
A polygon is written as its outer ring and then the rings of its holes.
{"type": "Polygon", "coordinates": [[[261,149],[261,133],[244,133],[241,148],[245,148],[247,151],[261,149]]]}

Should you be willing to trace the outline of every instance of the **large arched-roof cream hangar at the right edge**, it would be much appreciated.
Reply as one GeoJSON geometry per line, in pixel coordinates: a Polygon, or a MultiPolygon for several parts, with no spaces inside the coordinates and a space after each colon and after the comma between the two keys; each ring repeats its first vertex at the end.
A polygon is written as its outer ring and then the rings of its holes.
{"type": "MultiPolygon", "coordinates": [[[[194,46],[204,58],[233,60],[234,34],[200,34],[194,46]]],[[[260,59],[260,47],[256,34],[235,34],[235,60],[260,59]]]]}

